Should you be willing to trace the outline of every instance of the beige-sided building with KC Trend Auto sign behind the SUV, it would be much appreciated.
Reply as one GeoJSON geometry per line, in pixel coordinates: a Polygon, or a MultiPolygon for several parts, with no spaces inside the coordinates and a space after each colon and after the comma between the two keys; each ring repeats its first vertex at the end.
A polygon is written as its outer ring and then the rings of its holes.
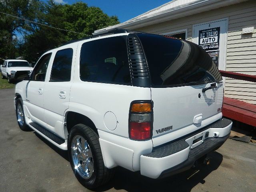
{"type": "MultiPolygon", "coordinates": [[[[172,0],[94,34],[113,28],[183,38],[202,46],[220,70],[256,75],[256,0],[172,0]]],[[[256,104],[256,83],[224,81],[225,96],[256,104]]]]}

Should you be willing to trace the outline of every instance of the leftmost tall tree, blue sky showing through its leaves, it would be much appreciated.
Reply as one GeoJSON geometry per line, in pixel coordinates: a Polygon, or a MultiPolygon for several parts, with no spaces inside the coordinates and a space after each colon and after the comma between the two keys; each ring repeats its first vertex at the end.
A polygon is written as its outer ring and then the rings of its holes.
{"type": "MultiPolygon", "coordinates": [[[[36,20],[39,0],[0,0],[0,11],[27,20],[36,20]]],[[[0,13],[0,58],[18,56],[19,40],[16,33],[25,33],[34,24],[0,13]]]]}

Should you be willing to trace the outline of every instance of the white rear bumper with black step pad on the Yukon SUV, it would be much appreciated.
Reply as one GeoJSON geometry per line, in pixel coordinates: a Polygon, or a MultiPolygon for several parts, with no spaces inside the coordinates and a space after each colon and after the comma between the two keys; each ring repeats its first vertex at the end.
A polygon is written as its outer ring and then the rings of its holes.
{"type": "Polygon", "coordinates": [[[140,156],[140,172],[150,178],[164,178],[189,170],[196,160],[218,149],[227,140],[232,121],[223,118],[210,126],[175,141],[153,148],[140,156]],[[207,136],[208,135],[208,136],[207,136]],[[193,144],[193,140],[202,140],[193,144]]]}

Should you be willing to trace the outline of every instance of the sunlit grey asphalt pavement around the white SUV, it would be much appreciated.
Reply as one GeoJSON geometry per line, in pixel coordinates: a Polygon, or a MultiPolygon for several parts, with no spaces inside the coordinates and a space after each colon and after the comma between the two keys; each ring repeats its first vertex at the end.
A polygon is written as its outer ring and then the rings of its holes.
{"type": "MultiPolygon", "coordinates": [[[[122,154],[120,154],[122,155],[122,154]]],[[[255,192],[256,145],[228,139],[209,154],[211,163],[162,180],[116,168],[109,184],[95,191],[255,192]]],[[[19,129],[14,89],[0,90],[0,192],[87,192],[75,178],[66,151],[34,131],[19,129]]]]}

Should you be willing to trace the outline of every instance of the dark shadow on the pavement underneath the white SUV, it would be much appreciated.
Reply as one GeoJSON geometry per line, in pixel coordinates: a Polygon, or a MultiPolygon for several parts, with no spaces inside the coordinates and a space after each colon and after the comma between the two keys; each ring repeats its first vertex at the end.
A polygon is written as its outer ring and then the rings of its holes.
{"type": "MultiPolygon", "coordinates": [[[[69,161],[67,151],[59,149],[36,132],[34,133],[50,148],[69,161]]],[[[186,172],[164,179],[151,179],[140,175],[140,172],[132,172],[125,168],[117,167],[112,180],[94,191],[104,192],[114,188],[115,190],[126,190],[128,192],[190,192],[198,183],[204,184],[204,178],[216,170],[223,160],[222,154],[216,151],[209,153],[208,157],[210,158],[210,165],[199,166],[196,169],[191,168],[186,172]]]]}

